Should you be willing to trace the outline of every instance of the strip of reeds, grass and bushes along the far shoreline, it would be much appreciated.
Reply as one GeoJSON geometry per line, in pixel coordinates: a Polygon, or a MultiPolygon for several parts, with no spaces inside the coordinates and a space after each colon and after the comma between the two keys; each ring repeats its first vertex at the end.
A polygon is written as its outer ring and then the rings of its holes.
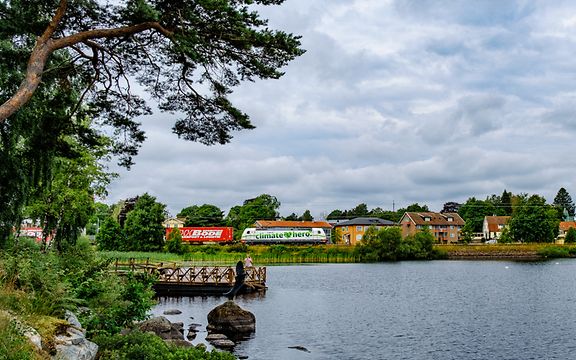
{"type": "Polygon", "coordinates": [[[100,255],[111,261],[153,263],[187,263],[200,265],[232,265],[250,253],[257,266],[299,263],[359,263],[373,261],[433,260],[433,259],[552,259],[576,257],[576,244],[474,244],[438,245],[430,250],[429,238],[423,235],[406,238],[396,251],[390,252],[385,239],[372,239],[370,246],[344,245],[270,245],[185,246],[183,254],[166,252],[102,251],[100,255]]]}

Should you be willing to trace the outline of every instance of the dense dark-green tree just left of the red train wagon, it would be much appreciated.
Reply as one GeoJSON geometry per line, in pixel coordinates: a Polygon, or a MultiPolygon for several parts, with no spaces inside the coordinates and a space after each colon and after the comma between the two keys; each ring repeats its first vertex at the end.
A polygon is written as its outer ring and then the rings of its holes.
{"type": "Polygon", "coordinates": [[[126,215],[124,250],[158,251],[164,245],[166,205],[156,202],[147,193],[136,201],[134,210],[126,215]]]}

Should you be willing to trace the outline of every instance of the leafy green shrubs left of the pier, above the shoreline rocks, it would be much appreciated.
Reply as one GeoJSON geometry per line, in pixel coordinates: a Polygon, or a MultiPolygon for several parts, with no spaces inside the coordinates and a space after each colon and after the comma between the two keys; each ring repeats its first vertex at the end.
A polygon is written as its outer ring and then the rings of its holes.
{"type": "Polygon", "coordinates": [[[89,309],[79,313],[89,334],[116,333],[146,317],[155,278],[119,277],[108,271],[109,264],[96,257],[86,238],[60,255],[18,243],[0,258],[0,309],[60,317],[82,306],[89,309]]]}

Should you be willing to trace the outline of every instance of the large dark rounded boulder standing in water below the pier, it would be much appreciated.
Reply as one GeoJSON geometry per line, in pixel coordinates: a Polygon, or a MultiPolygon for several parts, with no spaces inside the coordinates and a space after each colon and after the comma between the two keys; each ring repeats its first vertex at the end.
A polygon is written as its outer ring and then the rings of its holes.
{"type": "Polygon", "coordinates": [[[229,300],[208,313],[206,330],[226,334],[233,339],[242,338],[256,330],[256,317],[229,300]]]}

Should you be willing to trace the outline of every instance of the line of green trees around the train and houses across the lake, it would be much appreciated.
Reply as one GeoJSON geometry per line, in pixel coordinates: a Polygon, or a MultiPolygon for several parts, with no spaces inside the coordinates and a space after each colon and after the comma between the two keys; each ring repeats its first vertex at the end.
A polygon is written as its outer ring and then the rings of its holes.
{"type": "MultiPolygon", "coordinates": [[[[165,230],[162,226],[162,222],[168,215],[166,205],[157,202],[153,196],[143,194],[110,207],[97,203],[94,208],[94,213],[88,221],[87,231],[89,234],[98,233],[96,239],[101,249],[159,251],[167,246],[164,242],[165,230]]],[[[177,214],[177,217],[184,219],[185,226],[231,226],[236,230],[235,238],[237,239],[242,231],[252,226],[256,220],[314,220],[309,210],[305,210],[300,216],[292,213],[282,218],[278,212],[279,208],[280,201],[276,197],[262,194],[245,200],[242,205],[232,207],[226,216],[224,211],[216,205],[203,204],[185,207],[177,214]]],[[[474,233],[482,231],[485,216],[495,215],[511,217],[509,226],[502,235],[502,242],[551,242],[557,236],[559,222],[566,216],[573,216],[574,208],[570,195],[566,189],[561,188],[552,204],[547,204],[540,195],[515,195],[504,190],[501,195],[491,195],[484,200],[471,197],[463,204],[447,202],[441,212],[458,212],[466,221],[462,229],[462,238],[465,241],[470,241],[474,233]]],[[[394,211],[380,207],[369,209],[365,203],[361,203],[348,210],[335,209],[329,213],[327,220],[377,217],[398,222],[405,212],[428,211],[430,211],[428,206],[418,203],[394,211]]],[[[372,235],[369,235],[369,238],[370,236],[372,235]]],[[[408,245],[411,246],[408,248],[419,248],[414,245],[418,244],[418,241],[407,241],[404,250],[408,245]]],[[[570,233],[566,241],[576,241],[576,232],[570,233]],[[574,240],[572,240],[573,235],[574,240]]],[[[180,251],[174,241],[171,244],[173,252],[180,251]]],[[[368,253],[370,251],[364,255],[368,256],[368,253]]],[[[382,254],[377,257],[390,255],[386,251],[382,254]],[[382,255],[385,253],[388,255],[382,255]]],[[[405,254],[406,251],[400,252],[395,257],[401,259],[406,256],[405,254]]],[[[420,258],[420,255],[412,257],[420,258]]]]}

